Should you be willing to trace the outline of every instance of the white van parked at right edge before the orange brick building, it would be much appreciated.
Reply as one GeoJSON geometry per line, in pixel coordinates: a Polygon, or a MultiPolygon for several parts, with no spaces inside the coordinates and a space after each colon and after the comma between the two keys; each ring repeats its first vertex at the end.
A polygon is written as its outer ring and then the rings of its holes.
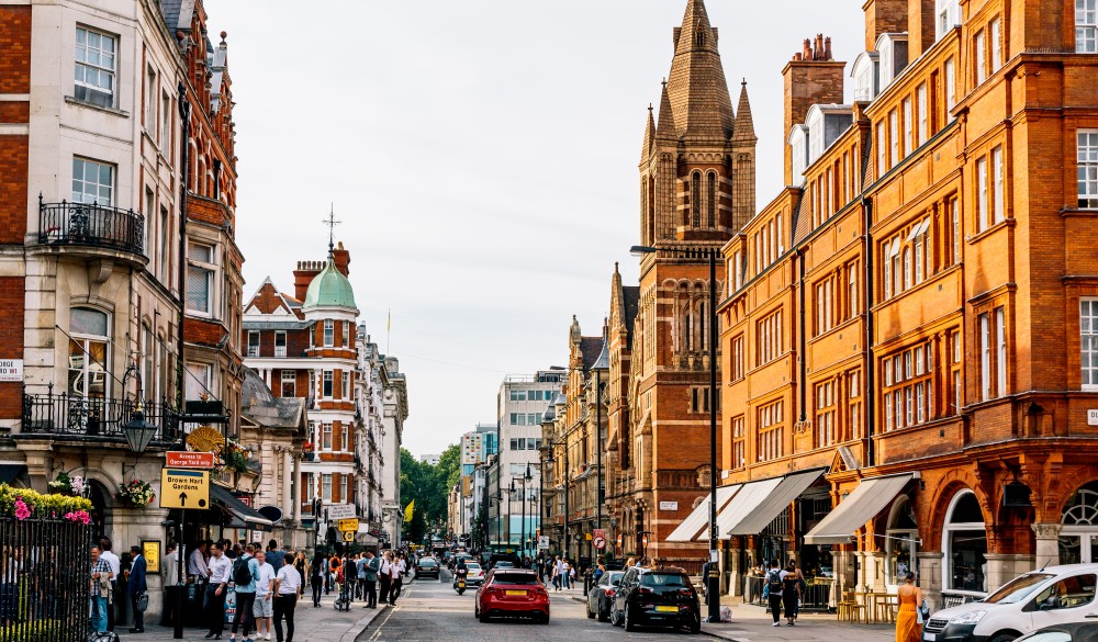
{"type": "Polygon", "coordinates": [[[1098,618],[1098,564],[1049,566],[1015,577],[981,601],[940,610],[925,642],[1010,642],[1045,627],[1098,618]]]}

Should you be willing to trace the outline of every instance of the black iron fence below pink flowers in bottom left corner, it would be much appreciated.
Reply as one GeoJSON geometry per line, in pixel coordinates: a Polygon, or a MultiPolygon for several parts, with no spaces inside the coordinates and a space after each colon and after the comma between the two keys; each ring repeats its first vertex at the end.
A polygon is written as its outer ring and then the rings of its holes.
{"type": "Polygon", "coordinates": [[[85,642],[91,527],[0,518],[0,642],[85,642]]]}

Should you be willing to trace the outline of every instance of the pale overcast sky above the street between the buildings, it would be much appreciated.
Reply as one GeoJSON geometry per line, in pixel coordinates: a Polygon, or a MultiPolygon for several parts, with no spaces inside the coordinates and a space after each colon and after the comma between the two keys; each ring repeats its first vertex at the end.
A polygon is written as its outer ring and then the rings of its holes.
{"type": "MultiPolygon", "coordinates": [[[[686,0],[205,4],[228,32],[245,296],[267,275],[292,293],[334,202],[361,318],[407,375],[412,452],[494,421],[506,374],[564,365],[573,314],[600,333],[614,262],[637,279],[646,110],[686,0]]],[[[783,182],[782,68],[816,33],[852,61],[861,4],[707,1],[733,104],[748,81],[759,207],[783,182]]]]}

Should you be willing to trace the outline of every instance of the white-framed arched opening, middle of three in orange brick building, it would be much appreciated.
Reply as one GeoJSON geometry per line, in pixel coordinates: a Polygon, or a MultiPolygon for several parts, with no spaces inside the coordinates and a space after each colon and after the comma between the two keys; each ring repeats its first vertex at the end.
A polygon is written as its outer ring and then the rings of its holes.
{"type": "Polygon", "coordinates": [[[987,592],[987,528],[976,494],[965,488],[950,502],[942,527],[942,587],[987,592]]]}

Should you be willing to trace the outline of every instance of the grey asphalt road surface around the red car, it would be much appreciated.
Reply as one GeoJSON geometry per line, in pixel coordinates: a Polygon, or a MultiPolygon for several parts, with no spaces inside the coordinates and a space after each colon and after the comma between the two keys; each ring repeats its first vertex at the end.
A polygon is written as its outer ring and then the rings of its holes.
{"type": "MultiPolygon", "coordinates": [[[[549,592],[548,624],[520,620],[492,620],[484,624],[473,617],[475,590],[459,596],[448,576],[442,582],[414,581],[405,586],[396,608],[380,613],[357,642],[578,642],[607,637],[612,641],[645,640],[684,642],[698,639],[659,629],[626,633],[597,620],[589,620],[582,602],[572,599],[580,590],[549,592]]],[[[358,608],[356,606],[356,608],[358,608]]]]}

